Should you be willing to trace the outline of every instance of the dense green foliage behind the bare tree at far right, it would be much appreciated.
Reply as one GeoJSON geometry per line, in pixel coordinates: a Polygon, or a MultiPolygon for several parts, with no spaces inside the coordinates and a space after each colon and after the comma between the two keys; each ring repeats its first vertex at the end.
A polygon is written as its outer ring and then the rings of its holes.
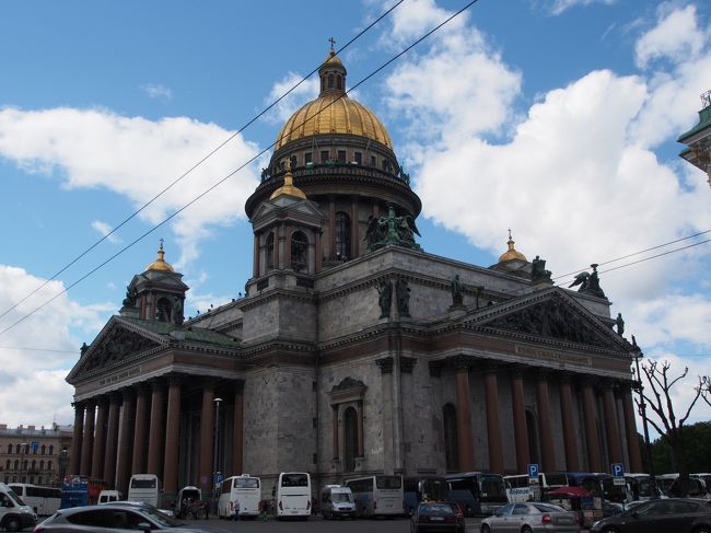
{"type": "MultiPolygon", "coordinates": [[[[678,472],[672,459],[672,448],[661,437],[652,442],[655,474],[678,472]]],[[[711,422],[684,426],[684,449],[689,473],[711,472],[711,422]]]]}

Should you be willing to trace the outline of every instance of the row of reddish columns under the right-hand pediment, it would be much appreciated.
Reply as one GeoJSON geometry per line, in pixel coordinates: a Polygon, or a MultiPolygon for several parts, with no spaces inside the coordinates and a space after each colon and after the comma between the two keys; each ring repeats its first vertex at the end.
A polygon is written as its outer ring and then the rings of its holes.
{"type": "MultiPolygon", "coordinates": [[[[462,472],[476,470],[475,450],[471,443],[471,391],[470,372],[473,369],[483,373],[483,395],[486,405],[487,438],[489,449],[489,470],[503,473],[503,441],[501,410],[499,406],[498,376],[501,369],[496,364],[476,362],[458,357],[452,360],[455,376],[456,428],[458,463],[462,472]]],[[[539,440],[539,467],[541,472],[556,472],[556,456],[566,457],[567,472],[605,472],[606,464],[625,463],[628,472],[642,472],[642,460],[637,438],[634,409],[632,406],[631,383],[610,379],[601,379],[585,374],[553,372],[544,369],[516,368],[509,371],[511,381],[511,417],[513,420],[516,472],[527,472],[532,463],[531,443],[526,421],[524,395],[525,381],[534,382],[536,391],[537,433],[539,440]],[[525,375],[524,375],[525,374],[525,375]],[[562,426],[562,450],[556,450],[552,429],[552,407],[550,387],[558,387],[562,426]],[[574,387],[574,390],[573,390],[574,387]],[[576,434],[574,426],[573,396],[582,403],[582,434],[576,434]],[[618,417],[618,402],[621,402],[622,416],[618,417]],[[602,403],[602,409],[598,409],[602,403]],[[601,426],[598,427],[598,420],[601,426]],[[607,455],[601,450],[599,436],[604,430],[607,455]],[[584,442],[585,461],[581,461],[578,442],[584,442]],[[627,455],[622,442],[627,444],[627,455]],[[607,460],[606,462],[604,460],[607,460]]],[[[478,462],[479,466],[481,461],[478,462]]]]}

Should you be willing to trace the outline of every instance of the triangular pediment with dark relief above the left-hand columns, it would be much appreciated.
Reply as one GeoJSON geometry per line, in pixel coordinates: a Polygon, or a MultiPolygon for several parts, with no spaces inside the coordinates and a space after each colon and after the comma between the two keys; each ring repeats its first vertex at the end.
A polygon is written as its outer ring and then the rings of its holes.
{"type": "Polygon", "coordinates": [[[82,354],[79,362],[67,376],[67,381],[72,383],[86,373],[95,373],[101,369],[113,367],[165,343],[160,335],[113,316],[82,354]]]}

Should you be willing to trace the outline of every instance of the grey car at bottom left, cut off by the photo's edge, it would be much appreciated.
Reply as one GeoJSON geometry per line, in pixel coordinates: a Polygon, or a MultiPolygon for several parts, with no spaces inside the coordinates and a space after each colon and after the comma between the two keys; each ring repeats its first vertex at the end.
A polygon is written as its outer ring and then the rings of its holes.
{"type": "Polygon", "coordinates": [[[116,530],[155,531],[172,533],[226,533],[210,525],[178,522],[152,506],[105,503],[103,506],[60,509],[35,526],[34,533],[101,533],[116,530]]]}

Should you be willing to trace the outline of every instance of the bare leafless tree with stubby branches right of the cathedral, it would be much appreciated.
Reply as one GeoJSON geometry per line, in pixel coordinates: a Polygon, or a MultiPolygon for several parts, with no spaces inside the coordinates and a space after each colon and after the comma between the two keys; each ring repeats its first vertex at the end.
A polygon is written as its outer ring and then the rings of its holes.
{"type": "MultiPolygon", "coordinates": [[[[676,494],[674,496],[686,496],[689,491],[689,467],[686,460],[684,424],[689,418],[691,409],[693,409],[699,397],[701,397],[703,382],[693,387],[696,392],[693,399],[684,416],[677,418],[674,403],[672,402],[672,389],[686,378],[689,369],[688,367],[685,368],[680,375],[673,378],[669,373],[671,368],[672,364],[668,361],[663,361],[660,364],[658,361],[648,360],[642,363],[642,373],[646,378],[650,386],[649,389],[642,389],[641,394],[650,409],[656,415],[656,420],[649,417],[646,420],[656,429],[661,439],[668,444],[672,451],[672,463],[679,473],[678,484],[675,488],[676,494]],[[646,391],[651,391],[651,394],[648,394],[646,391]]],[[[706,395],[704,401],[707,401],[706,395]]],[[[640,406],[640,410],[642,410],[640,401],[636,402],[640,406]]]]}

